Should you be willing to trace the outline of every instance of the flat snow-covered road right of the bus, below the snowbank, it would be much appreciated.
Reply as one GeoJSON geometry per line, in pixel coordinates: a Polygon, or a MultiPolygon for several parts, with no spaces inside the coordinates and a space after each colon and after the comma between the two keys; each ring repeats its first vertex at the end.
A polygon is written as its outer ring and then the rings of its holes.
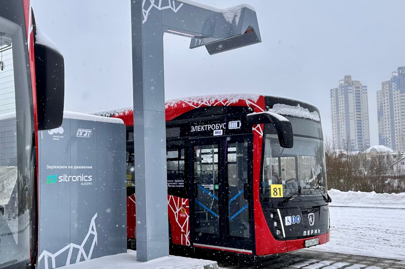
{"type": "Polygon", "coordinates": [[[331,240],[310,250],[405,260],[405,209],[329,208],[331,240]]]}

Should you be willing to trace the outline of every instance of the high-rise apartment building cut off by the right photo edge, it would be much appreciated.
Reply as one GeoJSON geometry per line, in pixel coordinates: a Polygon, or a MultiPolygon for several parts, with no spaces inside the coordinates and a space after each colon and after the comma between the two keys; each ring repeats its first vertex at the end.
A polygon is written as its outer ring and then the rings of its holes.
{"type": "Polygon", "coordinates": [[[380,145],[405,151],[405,67],[392,72],[377,91],[378,140],[380,145]]]}

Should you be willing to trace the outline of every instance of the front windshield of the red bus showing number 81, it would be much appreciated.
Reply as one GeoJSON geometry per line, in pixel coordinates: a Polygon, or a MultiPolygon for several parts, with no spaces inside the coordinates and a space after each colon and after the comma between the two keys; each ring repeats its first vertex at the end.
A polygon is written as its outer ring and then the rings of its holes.
{"type": "Polygon", "coordinates": [[[272,184],[282,184],[282,194],[277,197],[319,195],[315,189],[327,187],[321,125],[311,120],[286,118],[293,126],[293,148],[280,147],[272,124],[264,127],[262,197],[272,196],[272,184]]]}

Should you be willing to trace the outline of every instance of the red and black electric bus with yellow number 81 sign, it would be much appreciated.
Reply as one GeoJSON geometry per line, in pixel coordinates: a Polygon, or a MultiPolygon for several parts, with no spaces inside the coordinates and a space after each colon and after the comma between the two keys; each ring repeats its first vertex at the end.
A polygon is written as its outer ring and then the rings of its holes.
{"type": "MultiPolygon", "coordinates": [[[[94,113],[127,125],[128,238],[135,234],[131,107],[94,113]]],[[[268,255],[329,241],[319,111],[284,97],[195,96],[166,102],[173,244],[268,255]]]]}

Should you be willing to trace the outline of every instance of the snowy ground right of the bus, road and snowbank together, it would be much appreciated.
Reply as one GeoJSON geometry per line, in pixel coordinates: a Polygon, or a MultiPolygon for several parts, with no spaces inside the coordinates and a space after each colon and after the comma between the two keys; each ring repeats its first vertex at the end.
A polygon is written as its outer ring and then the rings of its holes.
{"type": "Polygon", "coordinates": [[[309,249],[405,260],[405,193],[328,193],[331,240],[309,249]]]}

